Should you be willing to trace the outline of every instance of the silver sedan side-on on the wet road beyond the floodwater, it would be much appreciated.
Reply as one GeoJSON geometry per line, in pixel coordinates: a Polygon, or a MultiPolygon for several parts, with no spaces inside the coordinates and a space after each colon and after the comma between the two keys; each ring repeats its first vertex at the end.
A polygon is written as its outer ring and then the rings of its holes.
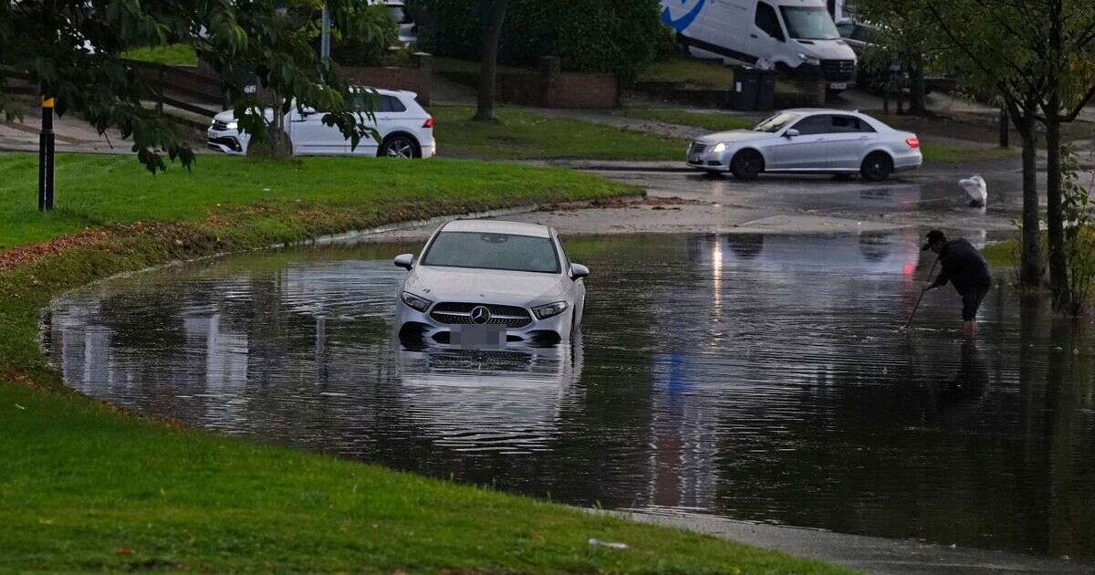
{"type": "Polygon", "coordinates": [[[786,110],[750,129],[710,134],[688,149],[689,166],[739,180],[765,172],[860,173],[879,182],[921,163],[915,134],[840,110],[786,110]]]}

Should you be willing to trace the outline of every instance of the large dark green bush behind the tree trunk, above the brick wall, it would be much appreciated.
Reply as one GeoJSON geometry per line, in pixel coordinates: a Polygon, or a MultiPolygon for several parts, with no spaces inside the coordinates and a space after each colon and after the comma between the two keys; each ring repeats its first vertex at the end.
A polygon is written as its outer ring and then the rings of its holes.
{"type": "MultiPolygon", "coordinates": [[[[426,16],[420,39],[438,56],[479,59],[480,2],[420,0],[426,16]]],[[[658,0],[510,0],[498,46],[498,61],[535,66],[558,56],[563,69],[604,72],[631,82],[658,55],[664,31],[658,0]]]]}

